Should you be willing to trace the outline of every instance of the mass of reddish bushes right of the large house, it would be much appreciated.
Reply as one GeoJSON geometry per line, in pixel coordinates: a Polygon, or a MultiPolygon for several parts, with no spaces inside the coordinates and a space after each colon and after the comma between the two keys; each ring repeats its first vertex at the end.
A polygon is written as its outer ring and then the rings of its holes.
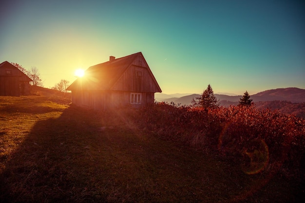
{"type": "Polygon", "coordinates": [[[245,162],[252,168],[249,173],[268,166],[296,175],[304,156],[305,121],[279,111],[253,105],[204,110],[161,102],[139,112],[136,120],[155,135],[197,149],[217,149],[219,155],[245,162]]]}

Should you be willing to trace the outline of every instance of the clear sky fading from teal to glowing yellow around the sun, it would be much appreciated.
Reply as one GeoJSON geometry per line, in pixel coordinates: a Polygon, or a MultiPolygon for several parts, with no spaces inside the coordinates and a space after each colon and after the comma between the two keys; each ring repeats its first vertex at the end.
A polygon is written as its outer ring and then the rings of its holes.
{"type": "Polygon", "coordinates": [[[2,0],[0,63],[44,87],[142,52],[163,93],[305,89],[303,0],[2,0]]]}

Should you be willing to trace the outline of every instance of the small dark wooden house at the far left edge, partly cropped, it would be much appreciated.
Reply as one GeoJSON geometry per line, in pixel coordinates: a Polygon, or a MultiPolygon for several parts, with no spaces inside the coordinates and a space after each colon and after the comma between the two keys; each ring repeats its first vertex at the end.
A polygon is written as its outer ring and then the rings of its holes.
{"type": "Polygon", "coordinates": [[[33,80],[11,63],[0,63],[0,96],[29,94],[31,81],[33,80]]]}

